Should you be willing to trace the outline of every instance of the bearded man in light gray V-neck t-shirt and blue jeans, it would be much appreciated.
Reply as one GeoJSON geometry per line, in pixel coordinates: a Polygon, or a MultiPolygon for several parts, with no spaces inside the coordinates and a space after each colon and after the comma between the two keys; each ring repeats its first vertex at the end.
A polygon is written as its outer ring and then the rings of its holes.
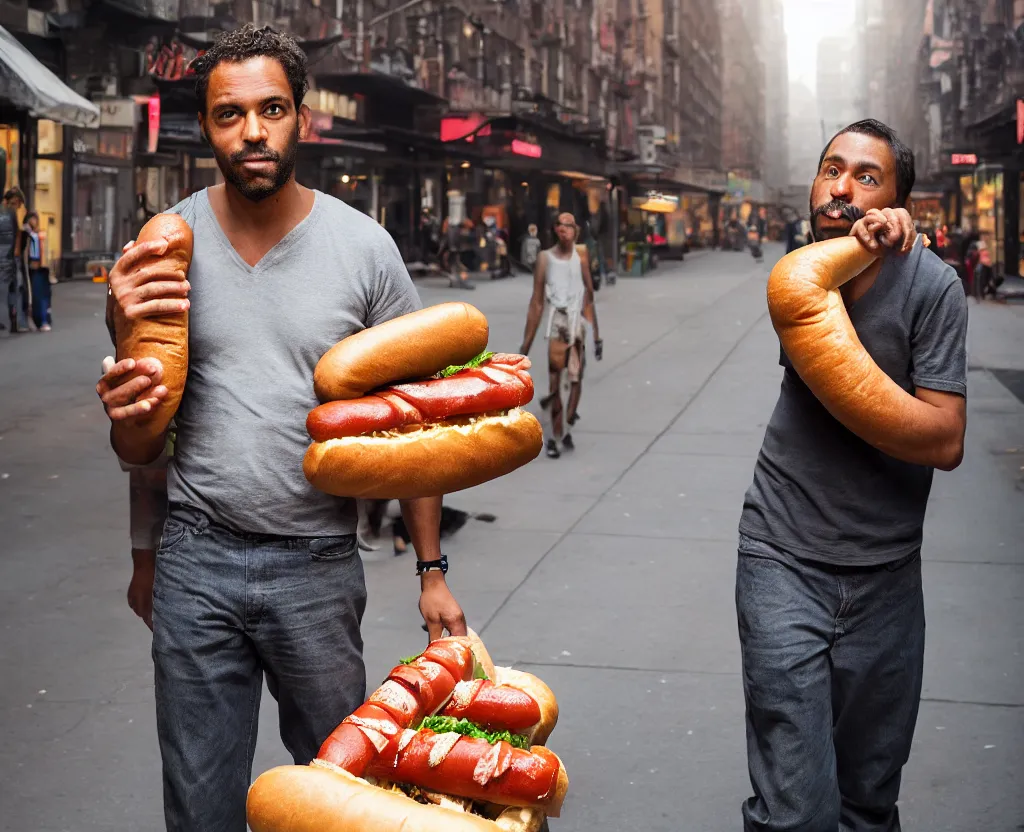
{"type": "MultiPolygon", "coordinates": [[[[195,69],[200,126],[226,183],[172,209],[194,233],[187,284],[138,267],[164,242],[129,246],[110,283],[128,318],[189,310],[169,512],[155,567],[141,567],[155,574],[167,828],[243,832],[264,672],[301,764],[366,695],[355,504],[314,490],[302,471],[313,369],[342,338],[420,301],[383,228],[295,180],[309,126],[296,43],[247,26],[195,69]]],[[[130,368],[114,366],[97,391],[112,422],[142,425],[167,389],[159,364],[141,383],[121,383],[130,368]]],[[[130,445],[134,434],[118,435],[130,445]]],[[[163,442],[115,450],[153,459],[163,442]]],[[[439,497],[402,503],[423,560],[439,561],[440,507],[439,497]]],[[[430,637],[465,634],[443,573],[420,580],[430,637]]]]}

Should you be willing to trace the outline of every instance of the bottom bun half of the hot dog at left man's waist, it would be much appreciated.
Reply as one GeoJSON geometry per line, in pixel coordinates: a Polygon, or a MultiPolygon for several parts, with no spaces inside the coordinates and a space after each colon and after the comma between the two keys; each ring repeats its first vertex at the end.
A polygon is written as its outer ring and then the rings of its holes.
{"type": "Polygon", "coordinates": [[[543,439],[537,418],[515,409],[500,416],[446,420],[403,433],[316,442],[306,452],[302,468],[314,488],[337,497],[434,497],[478,486],[525,465],[541,453],[543,439]]]}

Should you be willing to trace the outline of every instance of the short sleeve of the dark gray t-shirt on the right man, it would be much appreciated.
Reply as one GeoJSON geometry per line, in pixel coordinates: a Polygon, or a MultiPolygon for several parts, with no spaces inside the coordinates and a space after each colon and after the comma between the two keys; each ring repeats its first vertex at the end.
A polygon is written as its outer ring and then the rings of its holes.
{"type": "Polygon", "coordinates": [[[915,387],[967,396],[967,297],[958,280],[924,310],[910,340],[915,387]]]}

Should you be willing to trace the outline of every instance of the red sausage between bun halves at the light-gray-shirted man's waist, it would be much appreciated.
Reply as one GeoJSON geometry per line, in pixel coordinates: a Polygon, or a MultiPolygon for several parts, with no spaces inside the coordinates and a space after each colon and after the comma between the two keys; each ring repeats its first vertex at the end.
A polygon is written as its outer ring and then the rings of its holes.
{"type": "Polygon", "coordinates": [[[395,384],[359,399],[319,405],[306,417],[314,442],[521,407],[534,398],[524,356],[502,356],[449,378],[395,384]],[[520,361],[516,361],[520,360],[520,361]]]}

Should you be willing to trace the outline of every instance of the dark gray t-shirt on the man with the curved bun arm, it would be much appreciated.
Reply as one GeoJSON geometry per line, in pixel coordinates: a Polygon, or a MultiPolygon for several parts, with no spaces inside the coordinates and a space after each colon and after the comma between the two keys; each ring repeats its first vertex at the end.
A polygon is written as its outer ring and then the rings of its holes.
{"type": "MultiPolygon", "coordinates": [[[[922,246],[890,255],[848,307],[874,362],[909,393],[967,396],[967,299],[956,273],[922,246]]],[[[778,403],[746,492],[739,532],[797,557],[845,566],[921,547],[933,469],[901,462],[828,413],[785,353],[778,403]]]]}

